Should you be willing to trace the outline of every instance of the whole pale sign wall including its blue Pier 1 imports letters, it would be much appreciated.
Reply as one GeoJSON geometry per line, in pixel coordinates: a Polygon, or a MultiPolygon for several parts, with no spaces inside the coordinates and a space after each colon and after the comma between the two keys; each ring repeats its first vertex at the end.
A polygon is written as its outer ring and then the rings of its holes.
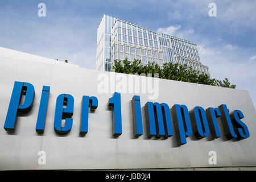
{"type": "Polygon", "coordinates": [[[122,73],[0,59],[0,169],[256,166],[247,90],[154,78],[152,99],[122,73]]]}

